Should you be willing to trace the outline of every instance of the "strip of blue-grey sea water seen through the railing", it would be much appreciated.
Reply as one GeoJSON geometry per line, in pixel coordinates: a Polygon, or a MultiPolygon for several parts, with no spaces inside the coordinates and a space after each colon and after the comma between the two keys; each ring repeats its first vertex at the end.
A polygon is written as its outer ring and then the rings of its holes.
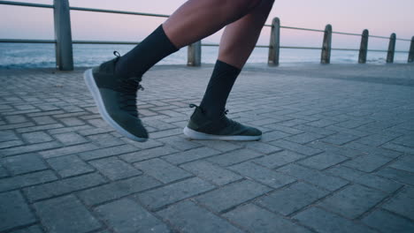
{"type": "MultiPolygon", "coordinates": [[[[73,44],[75,67],[91,67],[113,58],[113,51],[126,54],[134,45],[73,44]]],[[[218,47],[202,47],[202,63],[214,64],[218,47]]],[[[269,49],[256,48],[248,64],[267,64],[269,49]]],[[[280,64],[318,64],[320,50],[280,49],[280,64]]],[[[367,64],[385,64],[386,52],[368,52],[367,64]]],[[[395,63],[407,63],[408,53],[395,53],[395,63]]],[[[357,51],[333,50],[331,64],[357,64],[357,51]]],[[[158,64],[187,64],[187,48],[165,57],[158,64]]],[[[50,68],[56,66],[55,45],[42,43],[0,43],[0,69],[50,68]]]]}

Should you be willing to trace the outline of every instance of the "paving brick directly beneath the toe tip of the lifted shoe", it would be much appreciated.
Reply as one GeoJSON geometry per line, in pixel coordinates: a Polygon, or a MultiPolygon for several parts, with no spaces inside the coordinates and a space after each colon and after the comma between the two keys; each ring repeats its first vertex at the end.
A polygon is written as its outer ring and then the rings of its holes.
{"type": "MultiPolygon", "coordinates": [[[[179,150],[174,149],[173,147],[155,147],[146,150],[139,150],[134,153],[122,154],[119,156],[122,160],[126,162],[141,162],[148,159],[153,159],[161,157],[167,154],[177,153],[179,150]]],[[[169,161],[169,160],[167,160],[169,161]]],[[[169,161],[170,162],[170,161],[169,161]]]]}

